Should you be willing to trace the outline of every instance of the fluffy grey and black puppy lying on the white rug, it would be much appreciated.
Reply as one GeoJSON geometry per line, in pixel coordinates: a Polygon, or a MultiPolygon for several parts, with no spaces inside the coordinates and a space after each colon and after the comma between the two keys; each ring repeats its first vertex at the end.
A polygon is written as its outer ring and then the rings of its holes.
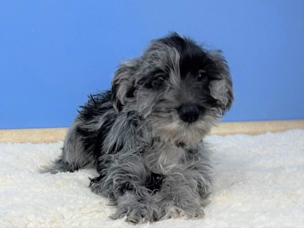
{"type": "Polygon", "coordinates": [[[220,51],[171,33],[121,63],[111,90],[89,96],[45,172],[96,168],[92,191],[131,223],[204,215],[211,192],[203,138],[233,102],[220,51]]]}

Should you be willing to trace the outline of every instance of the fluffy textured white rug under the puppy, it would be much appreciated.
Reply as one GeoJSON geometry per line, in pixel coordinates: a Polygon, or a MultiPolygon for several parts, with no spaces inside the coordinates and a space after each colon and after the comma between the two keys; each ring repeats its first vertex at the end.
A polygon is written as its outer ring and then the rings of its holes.
{"type": "MultiPolygon", "coordinates": [[[[202,219],[138,227],[303,227],[304,130],[208,136],[214,191],[202,219]]],[[[0,227],[134,227],[88,188],[94,170],[39,174],[62,142],[0,144],[0,227]]]]}

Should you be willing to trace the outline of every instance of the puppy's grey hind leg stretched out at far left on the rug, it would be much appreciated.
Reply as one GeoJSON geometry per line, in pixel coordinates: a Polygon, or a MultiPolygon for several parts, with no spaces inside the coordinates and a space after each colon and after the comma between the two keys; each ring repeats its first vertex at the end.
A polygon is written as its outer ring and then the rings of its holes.
{"type": "Polygon", "coordinates": [[[77,132],[79,125],[81,122],[76,119],[65,136],[62,155],[49,166],[42,167],[42,173],[73,172],[94,165],[93,156],[84,151],[82,136],[77,132]]]}

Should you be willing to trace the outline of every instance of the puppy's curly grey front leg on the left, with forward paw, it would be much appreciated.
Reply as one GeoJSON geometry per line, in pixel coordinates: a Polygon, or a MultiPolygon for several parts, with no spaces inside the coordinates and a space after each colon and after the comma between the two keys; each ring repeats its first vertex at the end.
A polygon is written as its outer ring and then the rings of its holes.
{"type": "MultiPolygon", "coordinates": [[[[107,168],[101,168],[101,175],[92,179],[93,192],[109,197],[117,204],[112,219],[127,217],[131,223],[157,221],[161,217],[159,196],[149,189],[151,173],[142,157],[134,154],[103,155],[103,164],[111,161],[107,168]]],[[[163,211],[163,215],[165,211],[163,211]]]]}

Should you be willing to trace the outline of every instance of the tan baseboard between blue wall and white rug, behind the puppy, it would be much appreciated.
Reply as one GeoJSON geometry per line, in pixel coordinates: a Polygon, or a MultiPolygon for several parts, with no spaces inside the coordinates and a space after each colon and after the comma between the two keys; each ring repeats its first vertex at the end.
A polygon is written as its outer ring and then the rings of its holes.
{"type": "MultiPolygon", "coordinates": [[[[304,129],[304,120],[225,122],[214,127],[210,134],[257,135],[265,132],[281,132],[296,128],[304,129]]],[[[0,142],[57,142],[64,140],[66,131],[67,128],[0,130],[0,142]]]]}

